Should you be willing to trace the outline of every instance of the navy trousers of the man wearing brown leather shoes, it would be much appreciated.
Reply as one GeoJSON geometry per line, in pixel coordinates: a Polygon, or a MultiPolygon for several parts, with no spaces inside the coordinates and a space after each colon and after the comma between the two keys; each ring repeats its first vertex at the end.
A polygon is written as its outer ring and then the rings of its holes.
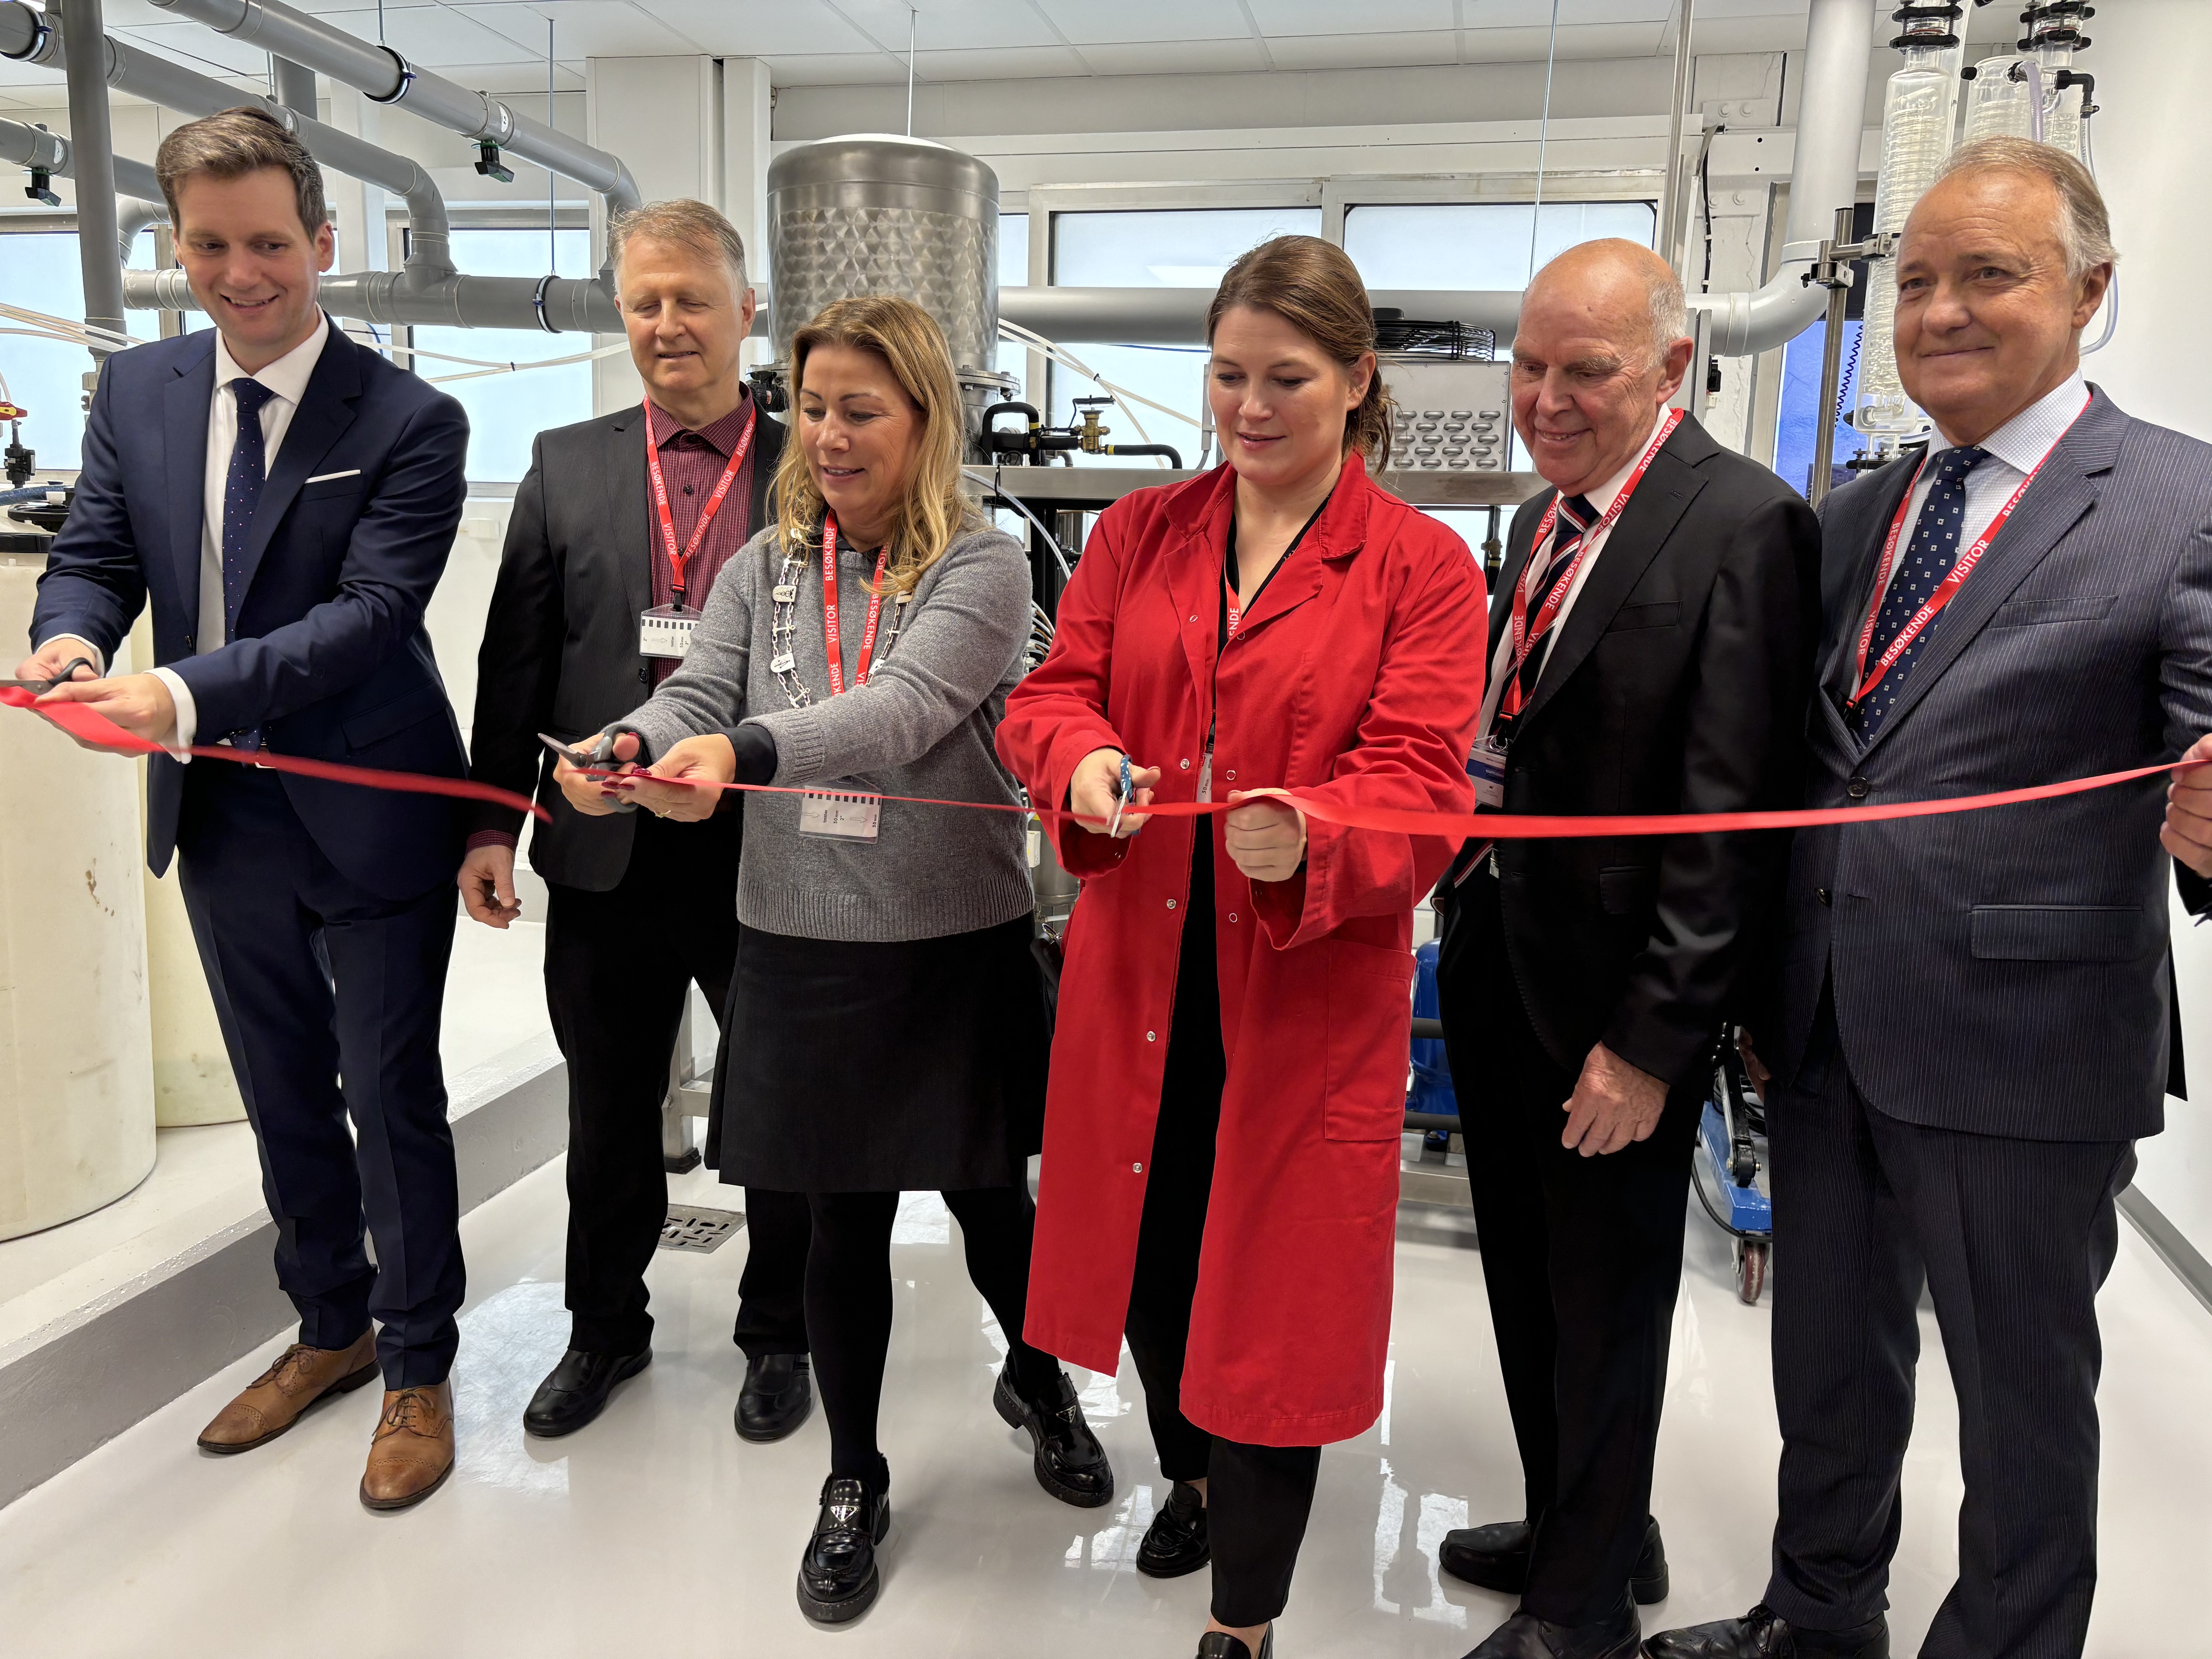
{"type": "Polygon", "coordinates": [[[405,900],[363,889],[274,772],[223,761],[186,770],[177,849],[299,1340],[347,1347],[374,1318],[385,1387],[442,1383],[465,1283],[438,1066],[451,887],[405,900]]]}

